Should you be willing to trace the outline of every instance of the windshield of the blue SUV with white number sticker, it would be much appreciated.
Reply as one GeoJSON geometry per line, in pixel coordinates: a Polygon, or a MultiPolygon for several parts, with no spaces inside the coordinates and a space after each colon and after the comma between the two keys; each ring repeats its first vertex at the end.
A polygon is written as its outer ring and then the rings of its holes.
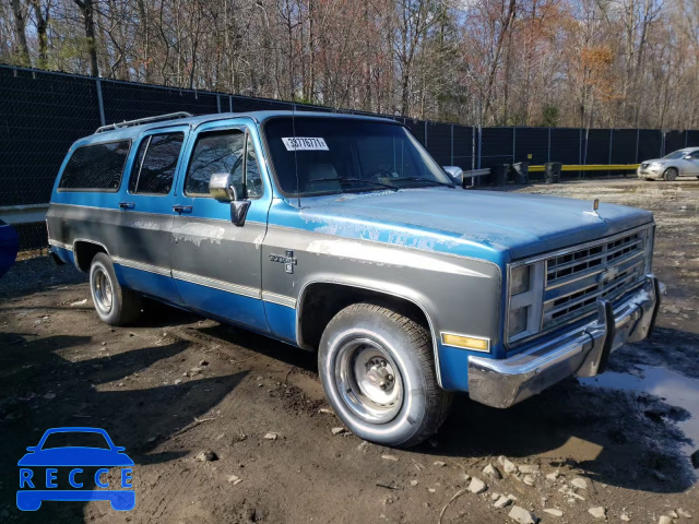
{"type": "Polygon", "coordinates": [[[401,126],[345,118],[280,117],[264,127],[277,182],[286,194],[453,187],[401,126]]]}

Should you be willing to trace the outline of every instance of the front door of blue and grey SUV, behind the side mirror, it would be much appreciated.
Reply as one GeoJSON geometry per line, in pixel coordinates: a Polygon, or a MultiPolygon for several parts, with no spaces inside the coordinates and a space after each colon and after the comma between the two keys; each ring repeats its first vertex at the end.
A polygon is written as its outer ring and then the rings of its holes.
{"type": "Polygon", "coordinates": [[[261,176],[253,134],[244,123],[212,122],[190,141],[189,165],[178,182],[171,269],[188,307],[266,332],[260,246],[271,190],[261,176]],[[251,204],[241,227],[230,222],[230,204],[209,194],[209,180],[220,172],[232,174],[234,182],[247,179],[251,204]]]}

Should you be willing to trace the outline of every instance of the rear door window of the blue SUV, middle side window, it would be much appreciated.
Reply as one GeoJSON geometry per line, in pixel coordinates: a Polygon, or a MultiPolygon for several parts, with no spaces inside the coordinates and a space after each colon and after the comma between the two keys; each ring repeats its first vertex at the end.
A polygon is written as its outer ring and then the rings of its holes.
{"type": "Polygon", "coordinates": [[[169,193],[183,141],[185,133],[153,134],[144,139],[133,162],[129,192],[169,193]]]}

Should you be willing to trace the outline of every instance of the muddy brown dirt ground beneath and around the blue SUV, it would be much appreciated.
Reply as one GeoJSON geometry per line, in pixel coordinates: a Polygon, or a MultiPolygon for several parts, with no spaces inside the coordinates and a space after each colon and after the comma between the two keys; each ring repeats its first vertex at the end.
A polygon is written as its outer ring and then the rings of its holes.
{"type": "MultiPolygon", "coordinates": [[[[655,213],[655,271],[667,296],[654,337],[614,354],[612,377],[640,381],[661,369],[689,381],[680,396],[699,391],[699,181],[519,190],[655,213]]],[[[144,311],[132,327],[100,323],[85,276],[46,258],[0,279],[0,522],[514,522],[511,507],[494,507],[495,493],[542,522],[699,519],[689,460],[699,436],[687,429],[690,410],[670,397],[576,379],[508,410],[459,395],[435,439],[391,450],[333,434],[340,421],[315,355],[165,306],[144,311]],[[100,427],[126,446],[135,462],[132,511],[102,501],[16,509],[17,460],[59,426],[100,427]],[[217,460],[197,458],[206,450],[217,460]],[[505,474],[500,455],[533,473],[505,474]],[[503,478],[484,474],[488,464],[503,478]],[[466,476],[488,489],[465,490],[466,476]],[[595,519],[589,510],[600,507],[595,519]]]]}

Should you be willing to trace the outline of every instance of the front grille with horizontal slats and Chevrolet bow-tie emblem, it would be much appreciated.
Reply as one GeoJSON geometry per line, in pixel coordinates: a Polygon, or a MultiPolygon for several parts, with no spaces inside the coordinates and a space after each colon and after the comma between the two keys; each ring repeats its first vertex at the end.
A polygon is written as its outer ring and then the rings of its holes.
{"type": "Polygon", "coordinates": [[[644,275],[650,231],[637,230],[547,259],[543,331],[591,314],[599,299],[614,303],[636,287],[644,275]]]}

